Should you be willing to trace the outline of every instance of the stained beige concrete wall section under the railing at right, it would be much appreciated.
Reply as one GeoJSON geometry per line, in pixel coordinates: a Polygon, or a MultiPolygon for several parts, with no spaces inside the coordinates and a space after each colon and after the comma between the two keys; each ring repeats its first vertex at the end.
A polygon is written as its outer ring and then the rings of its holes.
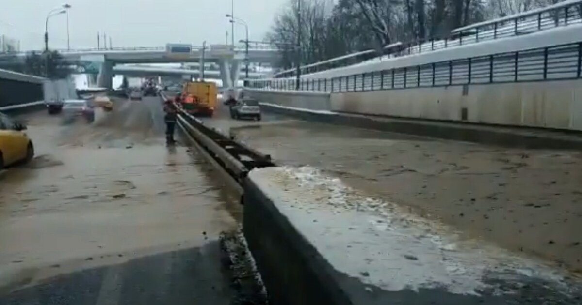
{"type": "Polygon", "coordinates": [[[582,80],[334,93],[331,110],[582,130],[582,80]]]}

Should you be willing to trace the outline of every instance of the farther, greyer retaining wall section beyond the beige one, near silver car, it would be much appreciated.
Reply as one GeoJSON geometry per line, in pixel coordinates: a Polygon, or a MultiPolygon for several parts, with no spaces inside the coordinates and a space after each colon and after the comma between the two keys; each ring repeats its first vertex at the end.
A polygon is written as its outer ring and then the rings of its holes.
{"type": "Polygon", "coordinates": [[[244,92],[245,95],[264,103],[311,110],[331,109],[328,92],[269,91],[249,88],[245,88],[244,92]]]}

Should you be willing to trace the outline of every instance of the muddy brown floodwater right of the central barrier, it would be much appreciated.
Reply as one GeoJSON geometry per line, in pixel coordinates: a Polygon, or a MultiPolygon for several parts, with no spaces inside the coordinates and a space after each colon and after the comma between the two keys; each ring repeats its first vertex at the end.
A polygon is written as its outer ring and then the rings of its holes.
{"type": "Polygon", "coordinates": [[[582,154],[507,149],[306,121],[236,128],[279,164],[347,185],[517,253],[582,272],[582,154]]]}

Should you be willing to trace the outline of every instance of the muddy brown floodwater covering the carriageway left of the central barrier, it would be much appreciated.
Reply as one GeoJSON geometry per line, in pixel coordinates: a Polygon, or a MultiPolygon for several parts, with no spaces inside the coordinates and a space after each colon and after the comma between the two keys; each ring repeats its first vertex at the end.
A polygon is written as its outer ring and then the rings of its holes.
{"type": "Polygon", "coordinates": [[[159,98],[116,101],[93,124],[26,120],[37,157],[0,178],[0,287],[203,246],[237,227],[237,199],[212,168],[166,147],[159,98]]]}

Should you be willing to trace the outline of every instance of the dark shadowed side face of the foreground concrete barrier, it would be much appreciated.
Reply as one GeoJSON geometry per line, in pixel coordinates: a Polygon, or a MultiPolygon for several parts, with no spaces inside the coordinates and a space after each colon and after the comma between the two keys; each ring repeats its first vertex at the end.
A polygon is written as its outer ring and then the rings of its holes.
{"type": "MultiPolygon", "coordinates": [[[[271,304],[351,304],[325,261],[251,178],[244,181],[243,232],[271,304]]],[[[363,288],[362,288],[363,290],[363,288]]]]}

